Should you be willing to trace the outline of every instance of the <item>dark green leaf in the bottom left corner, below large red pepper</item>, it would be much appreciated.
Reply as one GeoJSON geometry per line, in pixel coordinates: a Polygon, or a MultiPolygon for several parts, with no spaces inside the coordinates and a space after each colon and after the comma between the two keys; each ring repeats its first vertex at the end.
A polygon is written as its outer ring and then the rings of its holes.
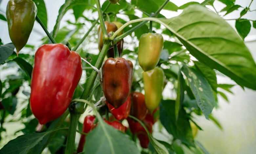
{"type": "MultiPolygon", "coordinates": [[[[56,129],[55,129],[56,130],[56,129]]],[[[18,136],[16,139],[9,141],[2,149],[0,153],[3,154],[28,154],[30,150],[38,144],[43,138],[52,133],[53,131],[47,131],[43,133],[31,133],[18,136]]]]}

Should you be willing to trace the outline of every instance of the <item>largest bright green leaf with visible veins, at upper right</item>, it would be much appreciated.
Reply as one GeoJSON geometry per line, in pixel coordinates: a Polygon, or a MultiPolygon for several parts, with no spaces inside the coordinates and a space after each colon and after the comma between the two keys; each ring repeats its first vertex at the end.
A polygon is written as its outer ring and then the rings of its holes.
{"type": "Polygon", "coordinates": [[[256,64],[248,48],[216,13],[192,5],[177,17],[155,21],[173,32],[201,63],[219,70],[241,86],[256,90],[256,64]]]}

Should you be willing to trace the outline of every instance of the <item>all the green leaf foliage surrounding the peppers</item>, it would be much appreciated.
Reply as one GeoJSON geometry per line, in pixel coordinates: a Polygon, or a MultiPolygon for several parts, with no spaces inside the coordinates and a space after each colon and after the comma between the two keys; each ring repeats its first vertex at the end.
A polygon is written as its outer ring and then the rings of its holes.
{"type": "MultiPolygon", "coordinates": [[[[46,9],[44,0],[33,1],[38,9],[37,16],[47,28],[47,13],[50,14],[50,11],[46,9]]],[[[162,31],[162,34],[168,38],[168,40],[164,40],[158,67],[163,68],[165,82],[173,85],[170,90],[175,92],[177,97],[161,101],[159,124],[173,138],[168,142],[163,142],[150,135],[151,145],[149,149],[141,150],[139,145],[136,146],[132,141],[131,133],[123,134],[102,123],[103,120],[98,118],[100,125],[89,133],[86,139],[88,142],[86,141],[84,148],[86,151],[90,151],[89,153],[99,151],[101,153],[139,153],[140,151],[141,153],[157,153],[161,151],[158,148],[165,146],[170,154],[179,154],[184,153],[183,147],[187,146],[193,152],[207,153],[202,144],[194,140],[190,122],[194,122],[194,115],[205,116],[220,129],[223,129],[211,112],[218,105],[217,94],[228,101],[225,93],[219,89],[232,93],[230,89],[234,85],[218,84],[216,72],[223,73],[243,88],[256,90],[256,64],[243,41],[250,29],[256,28],[256,20],[251,21],[242,18],[247,12],[253,11],[250,10],[251,3],[241,11],[240,17],[232,19],[236,21],[236,32],[219,14],[222,12],[225,15],[229,14],[235,10],[240,10],[241,6],[237,5],[235,0],[219,1],[225,5],[221,12],[207,9],[210,8],[209,6],[214,7],[214,0],[205,0],[202,3],[189,2],[181,6],[167,2],[163,10],[183,10],[182,13],[170,19],[166,19],[162,14],[156,14],[155,18],[151,18],[154,20],[153,31],[162,31]],[[160,27],[160,24],[164,28],[160,27]],[[97,148],[99,151],[96,151],[97,148]]],[[[132,0],[129,3],[126,0],[121,0],[118,2],[119,5],[111,4],[108,7],[109,2],[106,0],[102,4],[101,10],[107,8],[103,13],[104,20],[125,24],[130,20],[141,19],[140,16],[134,15],[135,11],[140,11],[142,17],[148,17],[151,13],[159,10],[164,2],[165,0],[132,0]],[[125,14],[126,17],[122,18],[119,16],[121,14],[125,14]]],[[[95,0],[65,0],[65,3],[58,9],[58,16],[52,32],[53,38],[57,43],[66,44],[69,42],[71,47],[75,47],[89,29],[88,25],[94,23],[91,14],[97,12],[96,2],[95,0]],[[68,10],[73,10],[75,22],[65,21],[68,26],[61,27],[62,18],[68,10]],[[91,13],[85,14],[85,11],[91,13]]],[[[0,14],[0,20],[5,22],[6,17],[0,14]]],[[[139,22],[132,23],[124,28],[124,32],[136,28],[140,24],[139,22]]],[[[97,24],[92,28],[86,41],[82,41],[84,43],[76,50],[82,58],[93,66],[96,65],[99,58],[97,48],[92,48],[97,43],[98,26],[97,24]]],[[[129,33],[127,36],[129,39],[124,38],[123,57],[131,60],[134,64],[134,82],[132,85],[134,91],[141,92],[144,88],[142,69],[137,60],[137,46],[140,36],[147,33],[149,27],[149,24],[146,23],[129,33]],[[128,42],[128,40],[130,41],[128,42]]],[[[48,42],[49,38],[45,34],[38,44],[48,42]]],[[[26,45],[24,50],[28,52],[21,50],[17,57],[13,44],[4,44],[0,39],[0,70],[16,70],[15,73],[8,74],[0,80],[0,133],[6,132],[3,125],[5,123],[19,121],[24,125],[24,128],[16,132],[24,135],[8,142],[0,149],[0,153],[41,153],[45,147],[48,147],[52,153],[61,153],[65,149],[68,132],[65,129],[57,132],[56,130],[69,126],[68,111],[57,120],[44,125],[40,133],[35,133],[38,123],[32,115],[29,97],[34,53],[37,48],[38,46],[26,45]],[[14,115],[19,116],[17,118],[14,115]]],[[[83,70],[85,74],[75,90],[74,99],[82,96],[84,89],[90,82],[88,81],[89,77],[94,72],[86,63],[83,63],[83,70]]],[[[92,103],[98,102],[103,96],[99,78],[93,82],[93,88],[90,92],[87,100],[92,103]]],[[[104,109],[104,106],[102,108],[104,109]]],[[[99,113],[101,113],[101,109],[99,109],[99,113]]],[[[79,125],[81,124],[79,123],[79,125]]],[[[199,125],[197,126],[201,129],[199,125]]],[[[160,133],[162,132],[160,131],[160,133]]],[[[1,135],[3,138],[3,133],[1,135]]],[[[136,139],[134,141],[137,142],[136,139]]]]}

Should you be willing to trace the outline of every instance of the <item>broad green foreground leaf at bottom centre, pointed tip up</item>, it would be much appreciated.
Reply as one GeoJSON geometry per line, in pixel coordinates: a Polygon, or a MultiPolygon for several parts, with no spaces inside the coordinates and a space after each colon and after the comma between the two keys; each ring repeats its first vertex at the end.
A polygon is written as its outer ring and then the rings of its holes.
{"type": "Polygon", "coordinates": [[[106,124],[102,119],[98,121],[97,127],[86,136],[86,153],[139,154],[138,148],[128,135],[106,124]]]}

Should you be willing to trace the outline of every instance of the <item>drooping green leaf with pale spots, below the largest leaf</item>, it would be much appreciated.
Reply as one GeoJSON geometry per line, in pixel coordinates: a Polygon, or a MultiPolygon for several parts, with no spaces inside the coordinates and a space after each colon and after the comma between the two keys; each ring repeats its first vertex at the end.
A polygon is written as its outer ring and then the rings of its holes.
{"type": "Polygon", "coordinates": [[[203,74],[194,68],[184,65],[181,70],[187,77],[189,87],[197,100],[197,105],[203,111],[205,118],[208,119],[216,104],[211,86],[203,77],[203,74]]]}

